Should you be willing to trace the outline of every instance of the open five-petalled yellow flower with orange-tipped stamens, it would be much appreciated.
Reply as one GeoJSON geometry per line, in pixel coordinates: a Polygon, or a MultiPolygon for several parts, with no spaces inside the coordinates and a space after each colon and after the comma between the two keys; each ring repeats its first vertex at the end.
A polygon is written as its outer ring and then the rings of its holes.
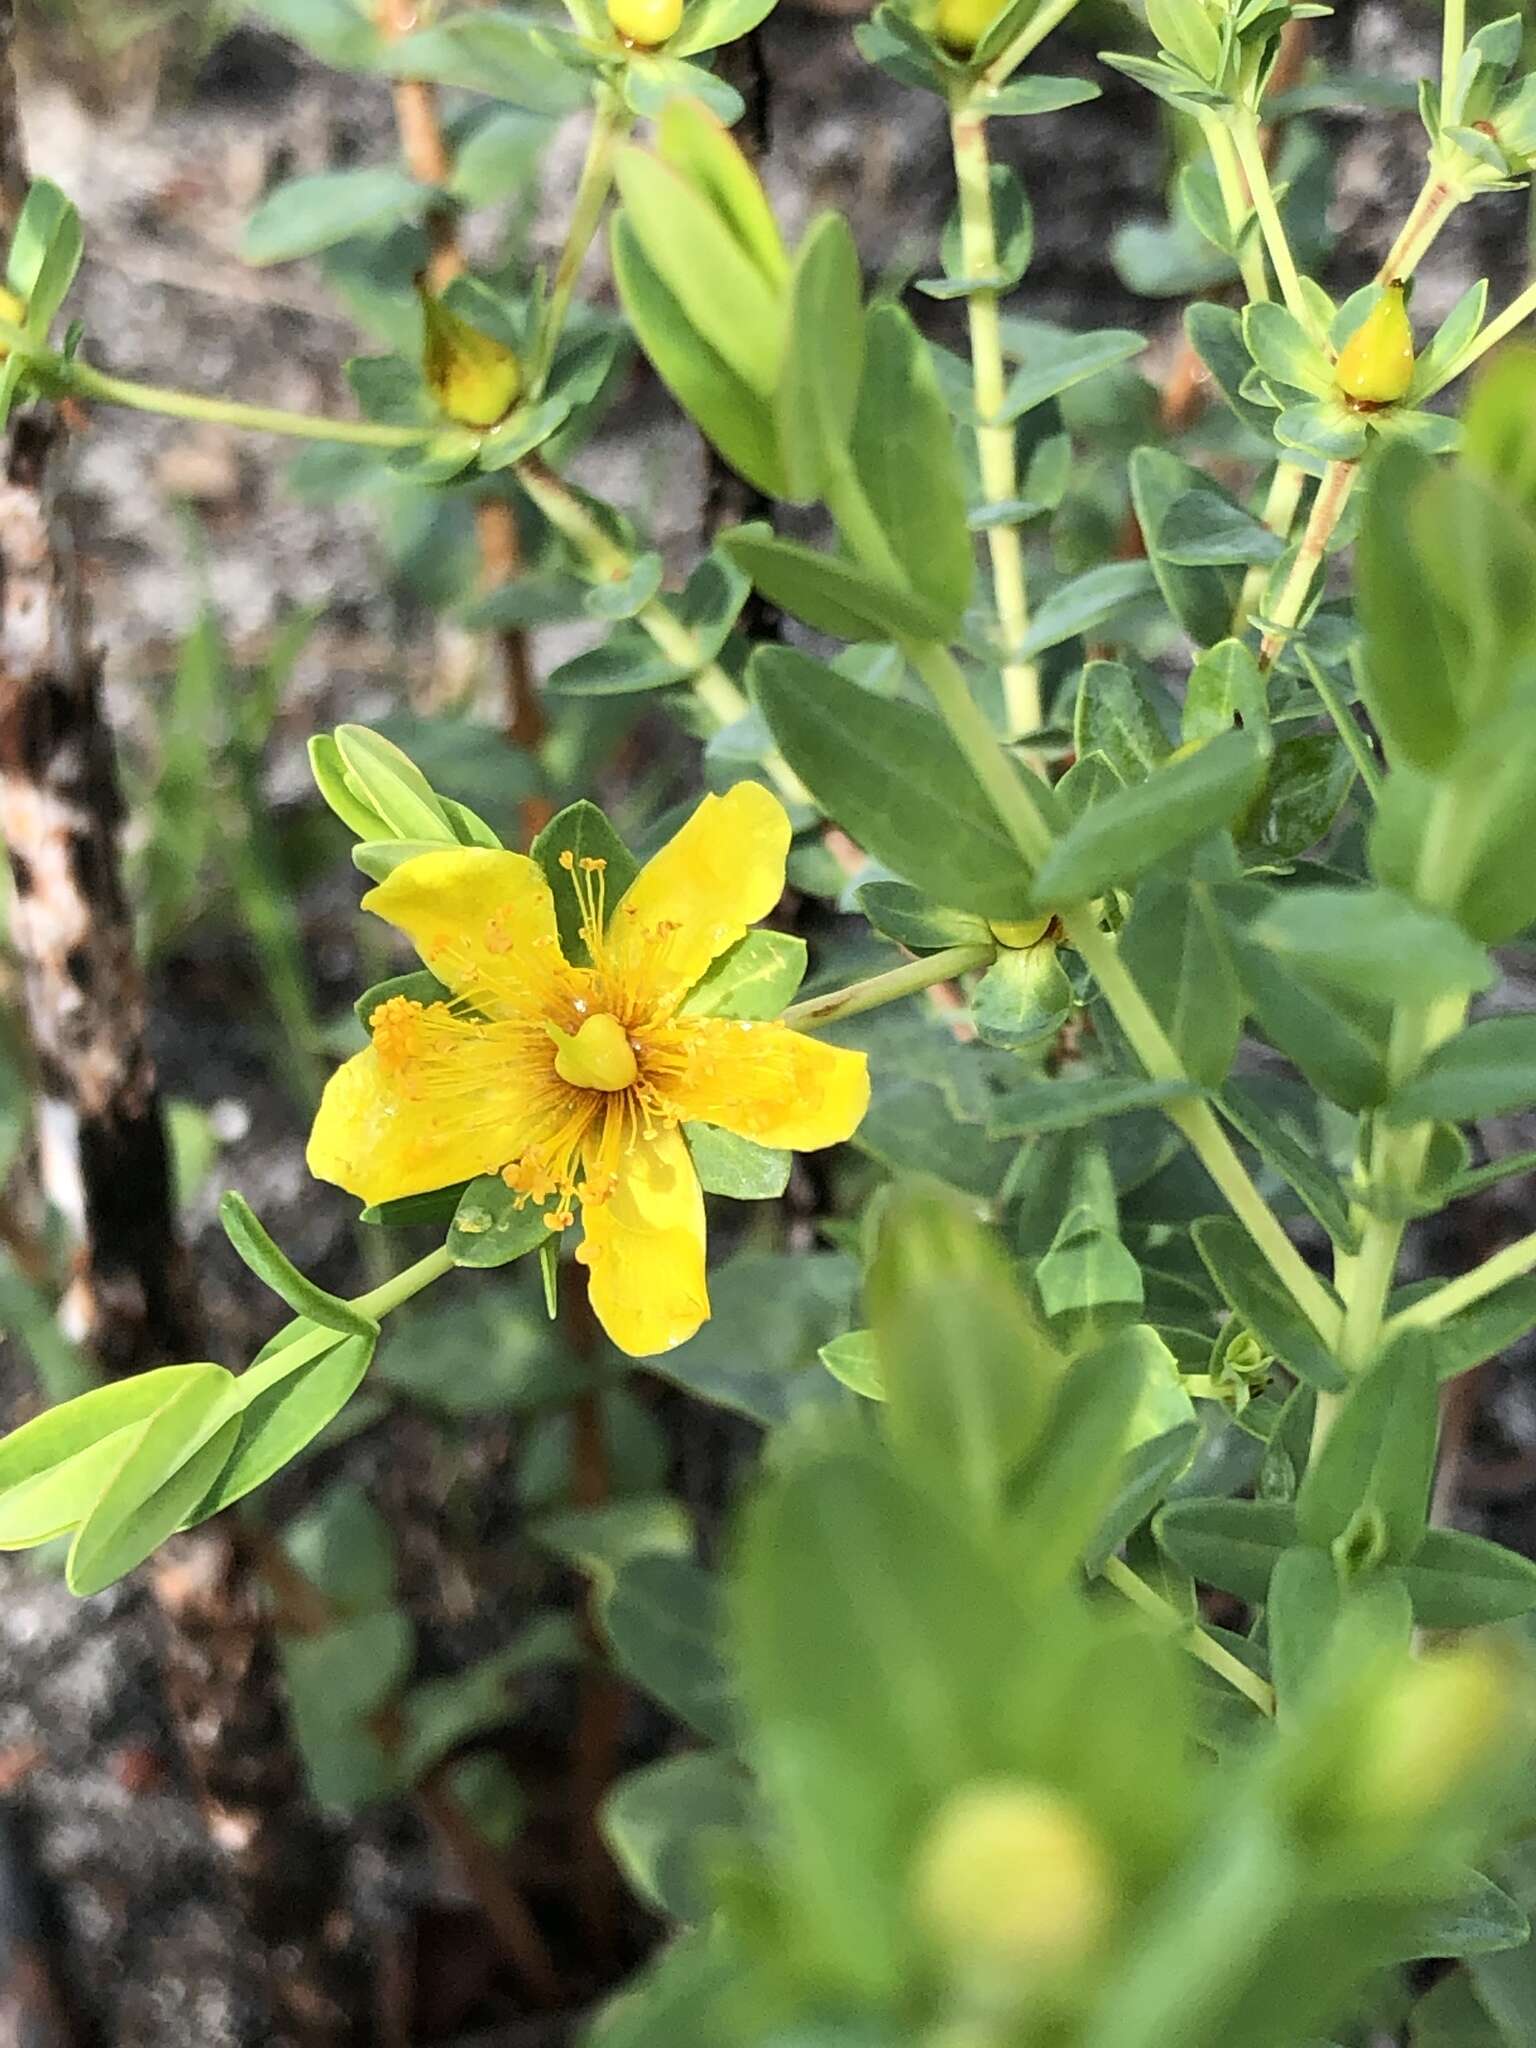
{"type": "Polygon", "coordinates": [[[401,862],[362,899],[399,926],[451,1001],[391,997],[373,1044],[332,1075],[309,1169],[365,1202],[500,1174],[580,1206],[592,1307],[631,1358],[709,1317],[705,1202],[682,1130],[719,1124],[813,1151],[868,1106],[862,1053],[774,1022],[686,1016],[705,969],[784,889],[791,827],[756,782],[705,797],[606,915],[604,864],[561,864],[590,967],[565,961],[555,897],[524,854],[467,846],[401,862]]]}

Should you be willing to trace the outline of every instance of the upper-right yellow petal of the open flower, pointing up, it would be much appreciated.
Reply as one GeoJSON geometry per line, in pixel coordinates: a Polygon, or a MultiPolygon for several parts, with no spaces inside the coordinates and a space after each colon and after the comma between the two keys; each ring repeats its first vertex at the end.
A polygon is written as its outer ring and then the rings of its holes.
{"type": "Polygon", "coordinates": [[[653,991],[690,989],[784,893],[784,805],[760,782],[705,797],[608,924],[608,958],[653,991]]]}

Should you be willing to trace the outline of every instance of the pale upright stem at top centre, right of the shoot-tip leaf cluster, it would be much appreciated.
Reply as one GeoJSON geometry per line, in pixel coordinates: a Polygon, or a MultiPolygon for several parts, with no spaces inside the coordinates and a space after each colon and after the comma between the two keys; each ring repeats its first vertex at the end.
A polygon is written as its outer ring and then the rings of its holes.
{"type": "MultiPolygon", "coordinates": [[[[997,270],[997,223],[991,211],[991,162],[987,158],[985,115],[965,98],[950,106],[954,184],[961,199],[961,260],[967,276],[997,270]]],[[[977,410],[977,465],[987,504],[1018,498],[1018,440],[1012,426],[993,424],[1004,408],[1004,334],[997,293],[967,295],[971,326],[971,381],[977,410]]],[[[1040,725],[1040,670],[1020,653],[1030,629],[1030,600],[1024,575],[1024,539],[1014,524],[987,528],[991,588],[1004,643],[1004,717],[1010,739],[1022,739],[1040,725]]]]}

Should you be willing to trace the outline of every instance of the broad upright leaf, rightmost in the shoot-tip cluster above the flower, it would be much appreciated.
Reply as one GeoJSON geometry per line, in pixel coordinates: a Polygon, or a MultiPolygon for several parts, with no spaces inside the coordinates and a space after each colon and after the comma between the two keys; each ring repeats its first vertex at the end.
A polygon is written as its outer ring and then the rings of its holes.
{"type": "Polygon", "coordinates": [[[852,457],[913,598],[936,621],[924,637],[952,639],[975,584],[965,475],[932,352],[899,305],[864,319],[852,457]]]}

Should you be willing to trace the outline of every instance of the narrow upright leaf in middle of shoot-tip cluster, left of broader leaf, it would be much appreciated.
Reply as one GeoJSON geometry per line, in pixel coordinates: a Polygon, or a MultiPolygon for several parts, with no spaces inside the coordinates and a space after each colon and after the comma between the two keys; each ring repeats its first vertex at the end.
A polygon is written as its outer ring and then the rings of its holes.
{"type": "Polygon", "coordinates": [[[788,346],[774,389],[774,426],[784,494],[821,496],[831,463],[848,446],[864,371],[864,276],[848,221],[821,213],[795,256],[788,346]]]}

